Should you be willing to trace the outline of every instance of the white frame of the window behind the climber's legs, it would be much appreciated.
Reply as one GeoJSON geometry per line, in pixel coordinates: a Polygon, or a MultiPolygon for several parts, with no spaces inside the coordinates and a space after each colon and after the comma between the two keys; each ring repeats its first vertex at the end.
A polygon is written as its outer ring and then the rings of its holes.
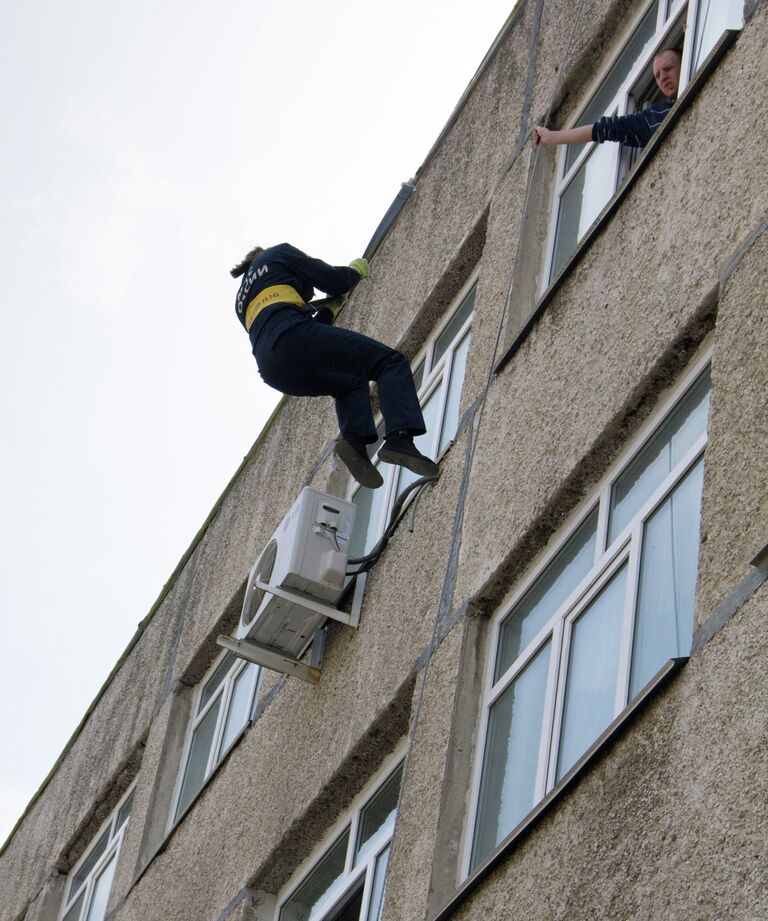
{"type": "MultiPolygon", "coordinates": [[[[438,454],[438,449],[440,446],[440,440],[442,438],[443,426],[445,425],[445,410],[448,402],[448,385],[451,380],[451,374],[453,372],[453,359],[458,347],[463,343],[465,336],[472,334],[472,323],[475,317],[475,311],[467,317],[464,323],[461,325],[461,328],[458,330],[456,335],[451,340],[450,345],[445,350],[443,355],[440,357],[440,360],[432,367],[432,356],[434,353],[435,344],[440,338],[443,330],[448,326],[448,324],[453,319],[454,314],[463,304],[464,299],[470,293],[472,288],[477,284],[480,277],[479,269],[476,269],[466,284],[463,285],[461,291],[451,302],[451,306],[445,312],[445,316],[441,319],[440,323],[435,327],[434,331],[430,333],[429,339],[418,353],[418,355],[411,362],[411,368],[413,370],[418,369],[419,365],[424,363],[425,368],[429,368],[429,373],[425,374],[421,384],[418,389],[419,405],[424,406],[427,400],[432,396],[432,394],[438,388],[442,388],[442,392],[438,397],[438,407],[437,415],[435,422],[435,429],[432,433],[432,444],[429,450],[423,450],[422,453],[427,454],[429,457],[433,458],[436,461],[440,461],[442,457],[448,452],[449,448],[453,444],[454,439],[452,438],[447,442],[442,451],[438,454]]],[[[476,297],[477,295],[475,295],[476,297]]],[[[463,389],[463,380],[462,380],[462,389],[463,389]]],[[[380,428],[382,423],[382,417],[379,414],[376,418],[377,428],[380,428]]],[[[376,523],[376,528],[374,533],[376,534],[375,542],[381,537],[384,533],[384,530],[389,521],[389,516],[392,512],[392,507],[394,506],[397,498],[397,483],[399,480],[400,467],[393,464],[382,464],[379,461],[379,452],[378,450],[371,458],[372,463],[379,469],[383,478],[384,485],[380,486],[379,489],[384,490],[383,499],[381,503],[381,508],[379,510],[379,518],[376,523]]],[[[350,484],[349,490],[349,501],[354,502],[355,496],[358,494],[362,487],[357,483],[350,484]]],[[[370,550],[366,551],[370,552],[370,550]]]]}

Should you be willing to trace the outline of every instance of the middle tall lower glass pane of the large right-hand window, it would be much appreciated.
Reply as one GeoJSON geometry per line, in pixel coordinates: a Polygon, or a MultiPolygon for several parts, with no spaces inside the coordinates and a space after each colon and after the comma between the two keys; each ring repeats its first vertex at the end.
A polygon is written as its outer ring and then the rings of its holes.
{"type": "Polygon", "coordinates": [[[626,586],[625,564],[573,625],[558,780],[613,719],[626,586]]]}

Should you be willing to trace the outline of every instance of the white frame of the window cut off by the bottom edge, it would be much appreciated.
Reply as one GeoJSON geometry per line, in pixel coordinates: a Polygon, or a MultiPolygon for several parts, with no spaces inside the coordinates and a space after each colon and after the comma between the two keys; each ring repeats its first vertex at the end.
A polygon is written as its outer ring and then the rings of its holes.
{"type": "Polygon", "coordinates": [[[307,877],[310,876],[315,867],[347,829],[349,829],[349,843],[347,845],[347,853],[344,861],[344,872],[315,905],[310,918],[315,919],[315,921],[323,921],[328,915],[344,905],[345,898],[359,886],[360,881],[363,879],[363,901],[360,907],[360,918],[363,919],[363,921],[368,918],[376,862],[392,843],[392,835],[394,833],[395,823],[397,822],[397,813],[389,818],[388,821],[378,829],[376,834],[366,841],[360,855],[357,860],[355,860],[355,848],[357,844],[360,816],[372,797],[384,786],[395,771],[399,767],[402,767],[404,756],[405,742],[402,742],[384,761],[381,768],[376,772],[375,777],[366,784],[365,788],[354,798],[346,811],[333,824],[331,830],[323,838],[322,842],[294,872],[288,882],[277,894],[274,921],[280,921],[280,912],[283,905],[290,900],[291,896],[299,889],[307,877]]]}

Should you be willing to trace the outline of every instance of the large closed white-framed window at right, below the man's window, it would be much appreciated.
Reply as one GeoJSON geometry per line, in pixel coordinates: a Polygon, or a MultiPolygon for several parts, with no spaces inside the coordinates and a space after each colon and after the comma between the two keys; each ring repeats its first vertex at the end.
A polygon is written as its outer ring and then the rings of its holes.
{"type": "Polygon", "coordinates": [[[463,870],[690,654],[707,440],[702,355],[493,618],[463,870]]]}

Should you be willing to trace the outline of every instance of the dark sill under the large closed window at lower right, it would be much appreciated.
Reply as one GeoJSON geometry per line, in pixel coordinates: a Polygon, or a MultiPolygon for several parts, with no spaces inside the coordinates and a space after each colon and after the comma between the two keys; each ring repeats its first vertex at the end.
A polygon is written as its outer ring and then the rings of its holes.
{"type": "Polygon", "coordinates": [[[496,850],[493,851],[493,853],[486,858],[469,877],[467,877],[453,898],[431,918],[431,921],[447,921],[447,919],[453,915],[459,906],[469,898],[471,893],[477,889],[486,877],[490,876],[490,874],[503,863],[512,851],[523,841],[528,833],[538,825],[542,817],[546,815],[573,786],[575,786],[579,778],[603,757],[610,749],[611,743],[621,737],[635,716],[645,708],[646,704],[656,697],[687,661],[687,657],[670,659],[667,664],[651,678],[632,703],[620,713],[602,735],[592,743],[565,777],[563,777],[560,783],[558,783],[557,786],[555,786],[547,796],[528,813],[517,827],[512,829],[496,850]]]}

